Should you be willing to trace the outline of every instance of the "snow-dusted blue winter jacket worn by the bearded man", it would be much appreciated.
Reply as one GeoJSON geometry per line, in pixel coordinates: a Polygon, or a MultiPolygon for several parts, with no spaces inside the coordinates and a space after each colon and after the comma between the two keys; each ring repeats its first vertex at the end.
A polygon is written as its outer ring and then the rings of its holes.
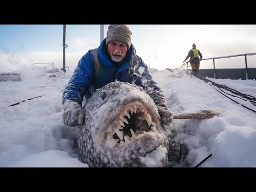
{"type": "Polygon", "coordinates": [[[136,50],[132,44],[130,49],[127,50],[126,60],[118,66],[108,57],[106,39],[103,39],[98,47],[100,68],[97,73],[95,73],[94,69],[95,57],[93,53],[97,54],[95,51],[95,49],[89,50],[79,60],[74,74],[63,92],[62,104],[66,100],[72,100],[82,107],[84,96],[88,99],[95,90],[117,80],[129,83],[134,82],[135,85],[141,86],[150,95],[156,105],[167,107],[163,92],[156,85],[147,65],[136,55],[136,50]]]}

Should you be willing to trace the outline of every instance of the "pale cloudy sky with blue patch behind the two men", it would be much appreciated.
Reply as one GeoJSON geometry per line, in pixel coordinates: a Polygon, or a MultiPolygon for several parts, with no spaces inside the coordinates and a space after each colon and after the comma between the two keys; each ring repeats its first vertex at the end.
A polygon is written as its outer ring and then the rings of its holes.
{"type": "MultiPolygon", "coordinates": [[[[109,25],[105,25],[105,36],[109,25]]],[[[137,54],[151,68],[178,68],[195,43],[203,58],[256,52],[256,25],[128,25],[137,54]]],[[[62,66],[63,25],[0,25],[0,59],[8,72],[33,63],[62,66]]],[[[66,66],[100,44],[100,25],[66,26],[66,66]]],[[[247,56],[256,67],[256,55],[247,56]]],[[[215,68],[244,68],[244,57],[215,60],[215,68]]],[[[213,68],[203,60],[201,69],[213,68]]]]}

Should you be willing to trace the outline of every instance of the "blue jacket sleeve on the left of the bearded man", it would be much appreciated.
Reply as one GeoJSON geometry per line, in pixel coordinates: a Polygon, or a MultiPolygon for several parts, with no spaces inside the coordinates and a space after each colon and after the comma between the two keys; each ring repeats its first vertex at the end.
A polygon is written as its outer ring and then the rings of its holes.
{"type": "Polygon", "coordinates": [[[91,51],[88,51],[79,60],[78,65],[66,85],[62,94],[62,105],[66,100],[77,102],[82,107],[85,93],[93,80],[94,58],[91,51]]]}

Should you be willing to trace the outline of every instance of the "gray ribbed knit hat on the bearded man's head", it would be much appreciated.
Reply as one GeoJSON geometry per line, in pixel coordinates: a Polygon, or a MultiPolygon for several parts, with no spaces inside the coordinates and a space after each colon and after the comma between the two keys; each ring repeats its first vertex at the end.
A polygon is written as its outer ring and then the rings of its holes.
{"type": "Polygon", "coordinates": [[[131,36],[132,31],[126,25],[110,25],[107,31],[106,45],[109,42],[119,41],[125,43],[130,49],[131,36]]]}

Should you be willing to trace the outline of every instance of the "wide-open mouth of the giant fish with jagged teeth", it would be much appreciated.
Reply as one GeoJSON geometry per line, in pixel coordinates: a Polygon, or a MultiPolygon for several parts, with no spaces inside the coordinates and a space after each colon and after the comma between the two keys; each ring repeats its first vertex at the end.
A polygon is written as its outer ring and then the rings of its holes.
{"type": "Polygon", "coordinates": [[[148,133],[158,133],[159,117],[150,114],[141,102],[127,104],[107,129],[106,146],[120,147],[148,133]]]}

